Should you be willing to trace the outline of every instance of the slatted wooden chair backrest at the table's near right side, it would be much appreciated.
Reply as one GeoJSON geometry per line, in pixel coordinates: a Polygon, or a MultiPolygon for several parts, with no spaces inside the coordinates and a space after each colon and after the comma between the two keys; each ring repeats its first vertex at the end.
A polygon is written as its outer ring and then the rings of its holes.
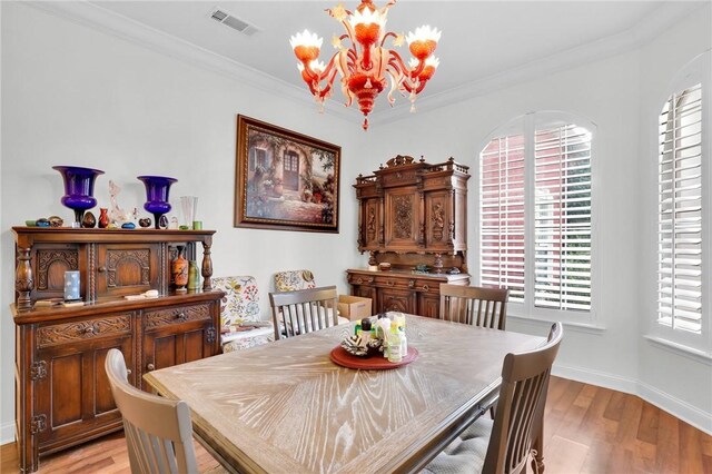
{"type": "Polygon", "coordinates": [[[505,356],[483,473],[526,471],[532,444],[541,432],[548,377],[562,336],[562,324],[556,323],[542,347],[505,356]]]}

